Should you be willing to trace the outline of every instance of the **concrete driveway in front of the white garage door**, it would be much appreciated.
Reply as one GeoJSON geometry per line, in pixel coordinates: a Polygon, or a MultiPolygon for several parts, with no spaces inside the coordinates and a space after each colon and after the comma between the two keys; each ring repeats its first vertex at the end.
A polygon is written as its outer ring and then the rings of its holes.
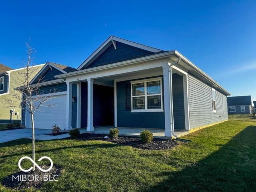
{"type": "MultiPolygon", "coordinates": [[[[35,129],[35,136],[52,133],[52,130],[47,129],[35,129]]],[[[21,138],[31,138],[32,129],[15,129],[0,131],[0,143],[12,141],[21,138]]]]}

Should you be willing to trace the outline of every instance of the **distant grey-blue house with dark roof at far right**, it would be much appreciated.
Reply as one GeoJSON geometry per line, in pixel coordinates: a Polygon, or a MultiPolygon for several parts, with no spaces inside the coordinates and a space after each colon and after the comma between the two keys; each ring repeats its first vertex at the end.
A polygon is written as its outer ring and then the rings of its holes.
{"type": "Polygon", "coordinates": [[[229,114],[251,114],[252,113],[251,96],[228,97],[229,114]]]}

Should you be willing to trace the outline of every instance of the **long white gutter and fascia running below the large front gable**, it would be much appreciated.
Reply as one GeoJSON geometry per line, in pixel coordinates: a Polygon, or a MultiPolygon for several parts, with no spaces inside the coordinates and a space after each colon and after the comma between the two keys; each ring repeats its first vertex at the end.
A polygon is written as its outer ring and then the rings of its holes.
{"type": "Polygon", "coordinates": [[[159,54],[156,54],[156,55],[145,56],[145,57],[142,57],[142,58],[136,58],[136,59],[132,59],[132,60],[117,62],[117,63],[114,63],[114,64],[108,64],[108,65],[98,66],[98,67],[94,67],[94,68],[76,70],[74,72],[69,72],[69,73],[66,73],[66,74],[60,74],[60,75],[56,75],[54,77],[56,77],[56,78],[66,78],[66,77],[69,77],[69,76],[74,76],[74,75],[79,75],[79,74],[86,74],[86,73],[96,72],[96,71],[110,69],[110,68],[116,68],[118,66],[126,66],[126,65],[130,65],[130,64],[135,64],[137,62],[145,62],[145,61],[150,61],[150,60],[154,60],[154,59],[164,58],[164,57],[170,56],[171,54],[174,54],[174,51],[168,51],[168,52],[159,53],[159,54]]]}

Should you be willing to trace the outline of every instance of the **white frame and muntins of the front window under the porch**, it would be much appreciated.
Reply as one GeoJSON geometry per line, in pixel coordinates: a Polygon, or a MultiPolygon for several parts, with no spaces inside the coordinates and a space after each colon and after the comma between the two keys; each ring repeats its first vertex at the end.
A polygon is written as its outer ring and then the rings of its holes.
{"type": "Polygon", "coordinates": [[[144,80],[137,80],[137,81],[131,81],[131,106],[132,110],[131,112],[163,112],[163,90],[162,90],[162,77],[160,78],[150,78],[150,79],[144,79],[144,80]],[[154,95],[159,95],[159,94],[152,94],[152,95],[147,95],[147,82],[151,81],[159,81],[160,80],[160,87],[161,87],[161,108],[160,109],[148,109],[148,100],[147,96],[154,96],[154,95]],[[134,97],[141,97],[141,96],[132,96],[132,85],[136,83],[144,83],[144,97],[145,97],[145,109],[133,109],[133,104],[132,104],[132,98],[134,97]]]}

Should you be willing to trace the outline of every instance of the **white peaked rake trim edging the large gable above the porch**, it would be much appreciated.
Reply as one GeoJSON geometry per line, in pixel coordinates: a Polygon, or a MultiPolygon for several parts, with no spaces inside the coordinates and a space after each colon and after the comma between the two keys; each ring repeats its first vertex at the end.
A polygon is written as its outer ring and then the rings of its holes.
{"type": "Polygon", "coordinates": [[[121,42],[121,43],[124,43],[124,44],[127,44],[127,45],[130,45],[130,46],[134,46],[134,47],[137,47],[137,48],[140,48],[140,49],[144,49],[144,50],[147,50],[147,51],[151,51],[151,52],[154,52],[154,53],[162,51],[160,49],[152,48],[152,47],[145,46],[145,45],[142,45],[142,44],[138,44],[138,43],[135,43],[135,42],[131,42],[131,41],[128,41],[128,40],[125,40],[125,39],[121,39],[121,38],[118,38],[118,37],[110,36],[76,70],[80,70],[83,66],[85,66],[92,58],[94,58],[94,56],[96,56],[96,54],[98,54],[112,40],[118,41],[118,42],[121,42]]]}

